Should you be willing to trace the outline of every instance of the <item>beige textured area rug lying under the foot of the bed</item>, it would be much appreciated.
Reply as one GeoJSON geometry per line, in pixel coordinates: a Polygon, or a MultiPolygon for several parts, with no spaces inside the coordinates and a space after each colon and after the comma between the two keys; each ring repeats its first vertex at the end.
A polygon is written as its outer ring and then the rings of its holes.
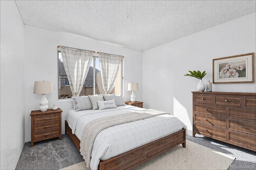
{"type": "MultiPolygon", "coordinates": [[[[227,170],[234,157],[187,140],[186,148],[178,145],[145,162],[134,170],[227,170]]],[[[90,170],[80,162],[62,170],[90,170]]]]}

